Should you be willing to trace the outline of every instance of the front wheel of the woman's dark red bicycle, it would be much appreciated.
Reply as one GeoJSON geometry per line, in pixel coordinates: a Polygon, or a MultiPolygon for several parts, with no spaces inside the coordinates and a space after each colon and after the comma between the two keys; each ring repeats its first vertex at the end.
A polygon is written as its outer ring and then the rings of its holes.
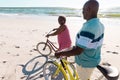
{"type": "Polygon", "coordinates": [[[37,51],[41,54],[41,55],[45,55],[48,56],[51,54],[52,50],[50,48],[50,46],[48,44],[46,44],[45,42],[40,42],[37,44],[36,46],[37,51]]]}

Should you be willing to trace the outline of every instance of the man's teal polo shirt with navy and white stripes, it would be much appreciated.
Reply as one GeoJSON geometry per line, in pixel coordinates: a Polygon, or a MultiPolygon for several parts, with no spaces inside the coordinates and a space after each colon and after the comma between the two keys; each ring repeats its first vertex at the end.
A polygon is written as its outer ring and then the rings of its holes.
{"type": "Polygon", "coordinates": [[[104,26],[98,18],[88,20],[76,36],[76,46],[84,51],[75,56],[75,61],[82,67],[96,67],[100,63],[104,26]]]}

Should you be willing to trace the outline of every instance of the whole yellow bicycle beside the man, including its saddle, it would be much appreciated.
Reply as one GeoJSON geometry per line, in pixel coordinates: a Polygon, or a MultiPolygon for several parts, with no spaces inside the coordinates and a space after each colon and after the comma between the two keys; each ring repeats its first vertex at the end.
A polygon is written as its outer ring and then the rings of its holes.
{"type": "MultiPolygon", "coordinates": [[[[119,72],[112,66],[98,65],[96,68],[102,73],[97,80],[117,80],[119,77],[119,72]]],[[[43,76],[45,80],[80,80],[74,65],[63,58],[48,61],[43,67],[43,76]]]]}

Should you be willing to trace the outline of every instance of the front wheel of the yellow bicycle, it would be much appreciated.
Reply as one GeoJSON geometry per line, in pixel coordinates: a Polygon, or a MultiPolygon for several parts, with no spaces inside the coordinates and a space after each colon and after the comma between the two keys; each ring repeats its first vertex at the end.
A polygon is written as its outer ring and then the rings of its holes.
{"type": "Polygon", "coordinates": [[[43,67],[43,76],[45,80],[66,80],[64,78],[64,74],[60,69],[55,75],[56,70],[58,70],[57,65],[52,61],[48,61],[43,67]]]}

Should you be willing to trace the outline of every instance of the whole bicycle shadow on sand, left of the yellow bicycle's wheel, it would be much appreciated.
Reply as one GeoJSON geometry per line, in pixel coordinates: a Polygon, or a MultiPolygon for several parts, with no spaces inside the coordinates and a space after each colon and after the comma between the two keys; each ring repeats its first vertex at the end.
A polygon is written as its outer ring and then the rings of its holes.
{"type": "Polygon", "coordinates": [[[48,61],[47,56],[36,56],[30,59],[25,65],[22,66],[22,72],[25,75],[21,79],[37,80],[43,77],[43,66],[48,61]]]}

